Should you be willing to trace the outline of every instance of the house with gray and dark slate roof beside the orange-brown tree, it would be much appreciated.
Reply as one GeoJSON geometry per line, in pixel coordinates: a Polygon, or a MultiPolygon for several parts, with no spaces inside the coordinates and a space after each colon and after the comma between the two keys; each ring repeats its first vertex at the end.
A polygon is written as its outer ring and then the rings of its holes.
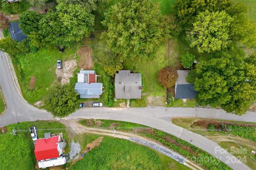
{"type": "Polygon", "coordinates": [[[175,99],[194,99],[196,91],[194,84],[187,82],[189,70],[177,70],[178,79],[175,83],[175,99]]]}

